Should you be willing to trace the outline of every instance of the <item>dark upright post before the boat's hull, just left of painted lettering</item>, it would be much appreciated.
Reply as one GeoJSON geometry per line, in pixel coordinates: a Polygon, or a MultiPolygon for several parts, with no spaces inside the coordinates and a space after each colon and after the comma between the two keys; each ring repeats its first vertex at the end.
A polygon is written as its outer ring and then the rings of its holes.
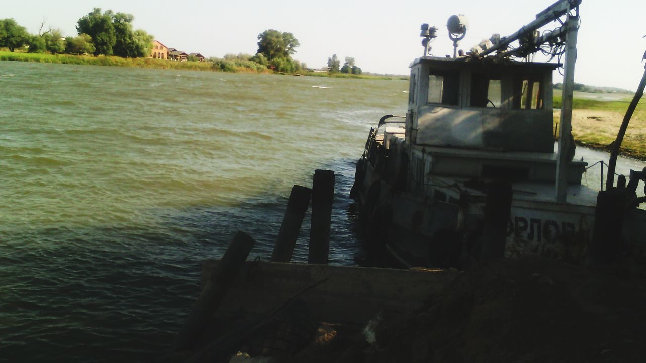
{"type": "Polygon", "coordinates": [[[489,183],[486,189],[485,238],[481,260],[495,260],[505,254],[507,224],[512,210],[512,184],[505,181],[489,183]]]}

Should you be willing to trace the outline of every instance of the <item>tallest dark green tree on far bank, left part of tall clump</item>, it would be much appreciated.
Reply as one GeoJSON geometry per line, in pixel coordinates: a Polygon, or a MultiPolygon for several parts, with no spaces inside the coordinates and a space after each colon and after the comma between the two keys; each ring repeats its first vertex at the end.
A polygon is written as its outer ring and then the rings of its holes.
{"type": "Polygon", "coordinates": [[[101,8],[94,8],[87,16],[81,17],[76,23],[78,34],[87,34],[94,43],[94,55],[112,55],[112,48],[116,44],[116,34],[112,23],[112,10],[101,13],[101,8]]]}

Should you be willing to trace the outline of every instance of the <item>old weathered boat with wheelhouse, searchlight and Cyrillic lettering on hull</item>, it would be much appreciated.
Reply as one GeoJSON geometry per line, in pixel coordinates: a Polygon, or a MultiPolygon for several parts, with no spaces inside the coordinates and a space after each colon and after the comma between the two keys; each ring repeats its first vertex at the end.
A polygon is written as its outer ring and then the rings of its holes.
{"type": "MultiPolygon", "coordinates": [[[[635,191],[644,173],[598,194],[581,184],[587,163],[573,160],[580,3],[557,1],[516,34],[494,34],[466,56],[428,56],[437,28],[422,25],[408,112],[380,119],[357,163],[351,198],[368,240],[406,266],[463,267],[496,254],[577,264],[620,253],[643,258],[646,211],[635,191]],[[562,26],[537,32],[555,19],[562,26]],[[560,65],[512,60],[546,47],[565,54],[558,152],[552,73],[560,65]]],[[[447,26],[457,49],[466,22],[452,16],[447,26]]]]}

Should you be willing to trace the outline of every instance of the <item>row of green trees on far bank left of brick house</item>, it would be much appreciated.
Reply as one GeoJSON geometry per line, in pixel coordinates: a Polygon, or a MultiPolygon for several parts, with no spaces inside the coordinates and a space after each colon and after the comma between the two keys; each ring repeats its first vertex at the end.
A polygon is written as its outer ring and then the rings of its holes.
{"type": "Polygon", "coordinates": [[[132,14],[94,8],[78,20],[76,37],[63,37],[59,29],[43,32],[44,23],[38,34],[30,34],[14,19],[0,19],[0,47],[11,52],[26,48],[30,53],[147,57],[154,38],[144,30],[133,30],[133,19],[132,14]]]}

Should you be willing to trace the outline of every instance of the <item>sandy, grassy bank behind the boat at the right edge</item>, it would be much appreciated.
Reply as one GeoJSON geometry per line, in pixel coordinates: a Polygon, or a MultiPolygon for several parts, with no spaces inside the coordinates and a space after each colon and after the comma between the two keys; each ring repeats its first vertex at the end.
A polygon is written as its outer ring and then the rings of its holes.
{"type": "MultiPolygon", "coordinates": [[[[574,98],[572,134],[581,145],[609,150],[619,131],[632,95],[621,101],[574,98]]],[[[559,121],[561,98],[554,97],[554,122],[559,121]]],[[[637,106],[621,143],[621,154],[646,160],[646,99],[637,106]]]]}

